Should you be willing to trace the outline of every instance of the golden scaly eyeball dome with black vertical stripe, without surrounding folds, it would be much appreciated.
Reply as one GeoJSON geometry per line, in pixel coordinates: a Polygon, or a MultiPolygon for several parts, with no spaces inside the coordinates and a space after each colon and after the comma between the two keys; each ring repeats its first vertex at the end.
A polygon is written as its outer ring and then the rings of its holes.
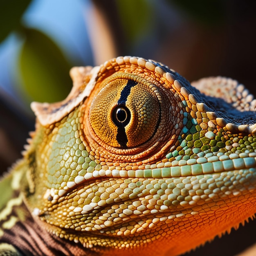
{"type": "Polygon", "coordinates": [[[89,120],[99,143],[136,148],[155,134],[161,117],[161,95],[146,79],[124,73],[104,81],[90,106],[89,120]],[[139,81],[136,81],[139,80],[139,81]]]}

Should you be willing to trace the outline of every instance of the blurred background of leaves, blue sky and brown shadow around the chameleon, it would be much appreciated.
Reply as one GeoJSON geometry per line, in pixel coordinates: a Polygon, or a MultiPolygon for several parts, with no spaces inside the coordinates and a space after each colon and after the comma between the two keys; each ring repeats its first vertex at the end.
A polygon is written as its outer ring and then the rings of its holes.
{"type": "MultiPolygon", "coordinates": [[[[64,99],[72,66],[139,56],[189,81],[231,77],[256,95],[255,9],[249,0],[0,1],[0,171],[34,130],[31,101],[64,99]]],[[[255,242],[255,230],[250,222],[186,255],[235,255],[255,242]]]]}

